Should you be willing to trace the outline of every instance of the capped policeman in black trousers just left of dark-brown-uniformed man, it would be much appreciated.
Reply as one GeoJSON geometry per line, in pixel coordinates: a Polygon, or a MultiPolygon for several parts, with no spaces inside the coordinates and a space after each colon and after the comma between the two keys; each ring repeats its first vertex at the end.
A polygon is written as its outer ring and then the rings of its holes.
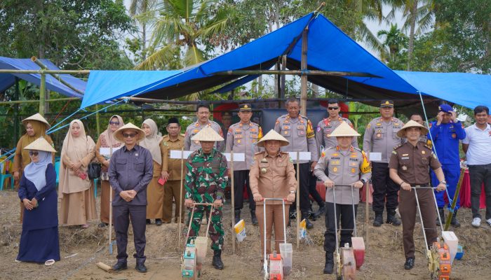
{"type": "Polygon", "coordinates": [[[372,183],[373,183],[373,211],[375,220],[373,225],[379,227],[384,223],[382,214],[384,213],[384,200],[387,209],[386,223],[401,225],[401,221],[396,218],[396,208],[398,205],[399,186],[389,178],[389,158],[394,147],[402,144],[401,137],[397,132],[401,130],[404,123],[398,118],[394,118],[394,102],[383,100],[380,104],[380,118],[373,119],[368,123],[363,137],[363,151],[365,153],[382,153],[382,160],[370,160],[372,162],[372,183]]]}

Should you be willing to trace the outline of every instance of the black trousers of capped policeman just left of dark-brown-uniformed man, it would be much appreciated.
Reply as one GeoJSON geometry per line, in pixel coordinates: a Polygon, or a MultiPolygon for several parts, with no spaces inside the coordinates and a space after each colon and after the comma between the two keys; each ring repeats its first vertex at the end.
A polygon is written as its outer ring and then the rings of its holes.
{"type": "Polygon", "coordinates": [[[384,204],[387,211],[396,210],[398,206],[399,186],[389,177],[389,164],[372,162],[373,184],[373,211],[375,214],[384,212],[384,204]],[[386,202],[384,203],[384,200],[386,202]]]}

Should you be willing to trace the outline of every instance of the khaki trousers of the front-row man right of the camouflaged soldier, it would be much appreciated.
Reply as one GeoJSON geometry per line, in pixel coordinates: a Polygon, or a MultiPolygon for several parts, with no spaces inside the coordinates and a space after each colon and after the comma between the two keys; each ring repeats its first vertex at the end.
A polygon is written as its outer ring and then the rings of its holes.
{"type": "MultiPolygon", "coordinates": [[[[285,223],[288,224],[289,205],[285,204],[285,223]]],[[[283,207],[281,204],[266,204],[266,253],[271,253],[271,230],[274,224],[274,249],[280,252],[280,243],[283,243],[283,207]]],[[[259,223],[261,235],[261,258],[264,255],[264,206],[262,203],[256,204],[256,217],[259,223]]]]}

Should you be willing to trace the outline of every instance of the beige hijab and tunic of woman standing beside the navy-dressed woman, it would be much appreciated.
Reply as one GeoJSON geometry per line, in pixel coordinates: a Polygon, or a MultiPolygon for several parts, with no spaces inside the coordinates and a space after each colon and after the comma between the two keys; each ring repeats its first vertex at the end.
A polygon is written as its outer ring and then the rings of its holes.
{"type": "Polygon", "coordinates": [[[90,154],[94,155],[95,143],[90,136],[86,135],[85,127],[80,120],[72,120],[70,127],[63,141],[60,160],[60,194],[62,193],[79,193],[90,188],[90,180],[88,179],[87,167],[81,166],[79,172],[86,174],[86,179],[83,180],[75,172],[63,162],[63,157],[69,158],[73,163],[83,162],[83,165],[88,165],[90,154]],[[79,137],[72,135],[72,126],[74,123],[80,127],[79,137]],[[89,158],[88,158],[89,157],[89,158]]]}

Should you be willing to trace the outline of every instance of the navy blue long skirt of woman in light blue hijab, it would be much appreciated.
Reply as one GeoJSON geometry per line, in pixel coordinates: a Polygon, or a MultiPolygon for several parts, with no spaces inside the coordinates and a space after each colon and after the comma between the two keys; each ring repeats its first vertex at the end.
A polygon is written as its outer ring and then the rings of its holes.
{"type": "Polygon", "coordinates": [[[40,262],[60,260],[58,227],[41,230],[22,230],[17,260],[40,262]]]}

